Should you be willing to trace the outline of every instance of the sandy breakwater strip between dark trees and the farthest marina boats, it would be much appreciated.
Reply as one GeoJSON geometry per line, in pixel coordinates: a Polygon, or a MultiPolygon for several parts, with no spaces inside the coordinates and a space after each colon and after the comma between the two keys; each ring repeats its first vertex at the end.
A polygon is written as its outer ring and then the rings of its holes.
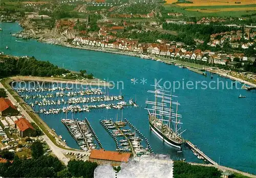
{"type": "Polygon", "coordinates": [[[30,76],[15,76],[15,77],[11,77],[11,79],[14,81],[54,82],[54,83],[66,83],[66,84],[102,86],[102,87],[112,86],[111,84],[105,81],[102,81],[100,79],[90,79],[88,81],[81,81],[81,80],[68,80],[68,79],[48,78],[48,77],[30,77],[30,76]]]}

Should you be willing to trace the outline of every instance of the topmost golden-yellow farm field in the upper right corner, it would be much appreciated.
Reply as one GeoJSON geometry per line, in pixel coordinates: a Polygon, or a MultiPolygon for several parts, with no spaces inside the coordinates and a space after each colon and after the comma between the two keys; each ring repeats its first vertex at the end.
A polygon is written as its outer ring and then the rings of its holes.
{"type": "MultiPolygon", "coordinates": [[[[256,4],[254,0],[187,0],[193,3],[179,3],[177,5],[182,7],[191,6],[241,6],[241,5],[251,5],[256,4]]],[[[177,1],[166,0],[166,4],[172,4],[177,1]]]]}

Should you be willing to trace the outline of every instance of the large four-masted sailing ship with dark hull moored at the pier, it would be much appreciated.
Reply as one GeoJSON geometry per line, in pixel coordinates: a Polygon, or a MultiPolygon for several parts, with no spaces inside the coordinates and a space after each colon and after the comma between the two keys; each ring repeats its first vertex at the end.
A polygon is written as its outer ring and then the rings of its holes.
{"type": "Polygon", "coordinates": [[[181,149],[181,145],[184,144],[181,134],[186,130],[181,132],[182,115],[178,114],[180,103],[173,100],[177,96],[172,95],[172,91],[165,91],[163,87],[154,87],[154,91],[147,92],[155,94],[155,101],[145,102],[150,129],[167,144],[181,149]]]}

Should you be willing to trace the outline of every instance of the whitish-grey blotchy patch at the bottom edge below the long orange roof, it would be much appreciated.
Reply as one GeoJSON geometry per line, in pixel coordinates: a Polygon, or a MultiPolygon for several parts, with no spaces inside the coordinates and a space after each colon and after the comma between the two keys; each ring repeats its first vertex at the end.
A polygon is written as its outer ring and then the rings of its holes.
{"type": "MultiPolygon", "coordinates": [[[[173,177],[173,161],[168,156],[141,156],[120,165],[117,177],[173,177]]],[[[100,165],[95,169],[95,178],[115,177],[115,170],[110,165],[100,165]]]]}

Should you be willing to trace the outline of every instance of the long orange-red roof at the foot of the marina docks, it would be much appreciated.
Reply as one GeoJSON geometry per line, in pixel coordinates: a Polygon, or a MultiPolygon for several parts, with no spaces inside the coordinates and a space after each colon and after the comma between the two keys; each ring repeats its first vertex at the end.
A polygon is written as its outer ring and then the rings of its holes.
{"type": "Polygon", "coordinates": [[[127,152],[117,152],[117,151],[105,151],[93,149],[90,155],[91,159],[98,160],[109,160],[109,161],[118,161],[118,162],[127,162],[131,154],[127,152]]]}

